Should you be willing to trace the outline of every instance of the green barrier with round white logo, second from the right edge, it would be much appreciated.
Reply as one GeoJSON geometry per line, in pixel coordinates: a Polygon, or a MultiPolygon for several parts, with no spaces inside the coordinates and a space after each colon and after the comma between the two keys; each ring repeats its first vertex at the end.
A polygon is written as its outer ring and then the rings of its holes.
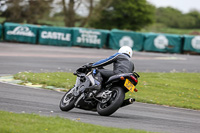
{"type": "Polygon", "coordinates": [[[181,53],[182,37],[172,34],[145,34],[144,50],[155,52],[181,53]]]}

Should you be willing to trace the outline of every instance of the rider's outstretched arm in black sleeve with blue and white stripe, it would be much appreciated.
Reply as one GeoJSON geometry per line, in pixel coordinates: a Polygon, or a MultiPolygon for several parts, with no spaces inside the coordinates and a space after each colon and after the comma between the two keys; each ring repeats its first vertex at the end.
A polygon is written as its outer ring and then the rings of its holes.
{"type": "Polygon", "coordinates": [[[112,55],[112,56],[110,56],[110,57],[108,57],[106,59],[100,60],[100,61],[94,63],[92,65],[92,67],[101,67],[101,66],[109,65],[109,64],[113,63],[116,60],[118,55],[120,55],[120,53],[116,53],[116,54],[114,54],[114,55],[112,55]]]}

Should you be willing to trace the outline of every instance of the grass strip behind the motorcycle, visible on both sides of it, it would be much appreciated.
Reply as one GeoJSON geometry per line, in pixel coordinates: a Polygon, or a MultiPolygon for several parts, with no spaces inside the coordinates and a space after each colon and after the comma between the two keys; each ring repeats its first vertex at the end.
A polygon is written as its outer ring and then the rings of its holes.
{"type": "MultiPolygon", "coordinates": [[[[200,110],[200,73],[139,73],[137,93],[127,93],[136,101],[200,110]]],[[[70,89],[72,73],[19,73],[16,79],[70,89]]]]}

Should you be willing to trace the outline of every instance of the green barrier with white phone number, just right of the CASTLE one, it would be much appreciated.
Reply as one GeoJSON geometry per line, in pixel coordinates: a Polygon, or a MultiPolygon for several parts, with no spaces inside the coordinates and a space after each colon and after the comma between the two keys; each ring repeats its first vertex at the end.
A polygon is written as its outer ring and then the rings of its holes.
{"type": "Polygon", "coordinates": [[[102,48],[107,43],[108,30],[73,28],[73,45],[102,48]]]}

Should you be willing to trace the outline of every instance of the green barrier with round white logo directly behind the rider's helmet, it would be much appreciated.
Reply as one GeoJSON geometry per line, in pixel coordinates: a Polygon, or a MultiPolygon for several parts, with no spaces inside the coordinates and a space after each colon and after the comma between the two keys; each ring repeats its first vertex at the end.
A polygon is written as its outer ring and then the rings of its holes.
{"type": "Polygon", "coordinates": [[[122,46],[130,46],[133,50],[143,49],[144,35],[133,31],[112,30],[109,36],[109,47],[119,49],[122,46]]]}

